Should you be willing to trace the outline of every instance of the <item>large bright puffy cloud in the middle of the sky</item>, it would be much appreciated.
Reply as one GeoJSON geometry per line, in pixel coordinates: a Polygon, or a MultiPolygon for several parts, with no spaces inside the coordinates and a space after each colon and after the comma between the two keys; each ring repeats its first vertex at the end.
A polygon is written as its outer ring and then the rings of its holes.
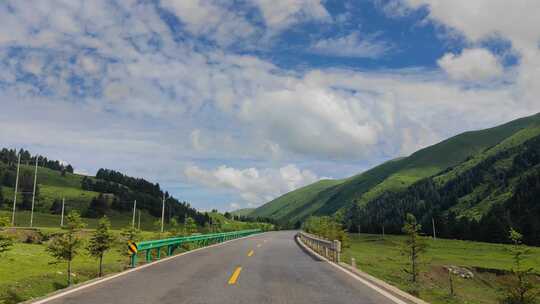
{"type": "Polygon", "coordinates": [[[240,119],[299,154],[340,158],[377,142],[377,122],[353,96],[311,80],[292,80],[247,99],[240,119]]]}

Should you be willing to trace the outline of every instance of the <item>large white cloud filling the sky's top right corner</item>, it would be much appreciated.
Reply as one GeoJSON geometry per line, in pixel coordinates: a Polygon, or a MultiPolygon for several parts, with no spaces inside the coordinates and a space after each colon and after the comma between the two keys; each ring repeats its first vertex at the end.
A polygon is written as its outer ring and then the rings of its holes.
{"type": "MultiPolygon", "coordinates": [[[[511,42],[519,55],[516,70],[516,93],[523,105],[538,103],[540,86],[540,1],[522,0],[402,0],[411,8],[426,7],[428,18],[436,24],[461,33],[471,43],[503,38],[511,42]],[[519,93],[518,93],[519,92],[519,93]]],[[[538,109],[537,107],[534,107],[538,109]]]]}

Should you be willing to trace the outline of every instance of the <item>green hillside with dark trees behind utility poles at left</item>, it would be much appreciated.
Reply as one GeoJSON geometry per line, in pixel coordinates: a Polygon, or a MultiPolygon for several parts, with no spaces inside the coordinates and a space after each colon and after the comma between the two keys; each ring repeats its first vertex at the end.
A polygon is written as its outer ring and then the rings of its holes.
{"type": "MultiPolygon", "coordinates": [[[[16,181],[17,154],[15,150],[3,149],[0,152],[0,185],[3,199],[0,200],[0,212],[8,214],[12,210],[14,188],[16,181]]],[[[32,205],[32,190],[34,185],[35,167],[31,163],[35,156],[28,151],[21,161],[19,187],[17,195],[16,225],[29,225],[27,212],[32,205]],[[24,193],[24,194],[23,194],[24,193]]],[[[40,164],[43,165],[43,157],[40,164]]],[[[141,226],[152,229],[153,222],[161,218],[162,196],[164,190],[159,184],[154,184],[140,178],[125,176],[120,172],[101,169],[100,178],[83,176],[53,169],[38,167],[34,216],[34,225],[38,227],[56,227],[59,218],[53,213],[60,213],[61,200],[66,201],[66,213],[77,210],[83,216],[89,217],[87,222],[93,227],[95,220],[106,214],[111,218],[113,226],[120,227],[131,223],[133,202],[142,212],[141,226]],[[104,195],[100,195],[103,193],[104,195]],[[91,202],[94,201],[92,204],[91,202]],[[54,208],[51,208],[53,207],[54,208]]],[[[173,197],[167,198],[166,218],[177,220],[192,217],[198,225],[204,226],[208,216],[200,213],[189,204],[179,202],[173,197]]]]}

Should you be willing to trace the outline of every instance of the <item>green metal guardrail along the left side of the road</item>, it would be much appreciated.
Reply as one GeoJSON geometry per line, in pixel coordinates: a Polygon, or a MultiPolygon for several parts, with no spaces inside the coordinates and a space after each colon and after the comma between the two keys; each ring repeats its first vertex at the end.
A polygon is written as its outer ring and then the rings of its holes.
{"type": "MultiPolygon", "coordinates": [[[[200,234],[185,237],[175,237],[163,240],[143,241],[135,243],[137,252],[145,251],[146,262],[152,261],[152,250],[156,251],[156,259],[161,258],[161,248],[167,248],[167,255],[171,256],[174,251],[182,244],[195,243],[199,246],[208,246],[211,244],[222,243],[225,241],[245,237],[248,235],[262,232],[260,229],[200,234]]],[[[137,266],[137,253],[131,255],[131,267],[137,266]]]]}

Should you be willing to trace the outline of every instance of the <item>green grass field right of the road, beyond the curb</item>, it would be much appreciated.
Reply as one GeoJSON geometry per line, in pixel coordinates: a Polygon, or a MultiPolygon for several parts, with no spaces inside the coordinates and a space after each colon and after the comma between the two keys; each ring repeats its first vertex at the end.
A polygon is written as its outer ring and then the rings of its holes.
{"type": "MultiPolygon", "coordinates": [[[[402,236],[351,234],[350,248],[344,250],[343,261],[356,259],[358,268],[403,290],[408,290],[405,257],[401,255],[402,236]]],[[[512,267],[508,245],[459,240],[428,239],[428,251],[423,258],[420,297],[430,303],[498,303],[500,288],[509,280],[501,274],[512,267]],[[453,276],[456,296],[449,297],[449,277],[444,266],[459,266],[472,270],[473,279],[453,276]],[[497,274],[499,273],[499,274],[497,274]]],[[[540,274],[540,248],[531,247],[526,266],[540,274]]],[[[540,276],[536,278],[540,286],[540,276]]]]}

